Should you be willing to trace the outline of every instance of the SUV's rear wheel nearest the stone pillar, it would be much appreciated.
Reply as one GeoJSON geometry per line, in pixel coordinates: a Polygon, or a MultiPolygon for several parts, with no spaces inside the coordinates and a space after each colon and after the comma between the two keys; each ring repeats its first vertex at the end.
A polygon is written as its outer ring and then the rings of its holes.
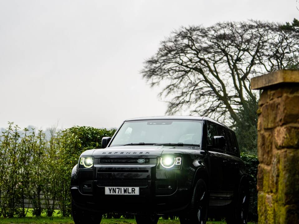
{"type": "Polygon", "coordinates": [[[239,191],[231,205],[231,209],[227,211],[225,218],[227,224],[247,224],[249,212],[249,189],[241,185],[239,191]]]}

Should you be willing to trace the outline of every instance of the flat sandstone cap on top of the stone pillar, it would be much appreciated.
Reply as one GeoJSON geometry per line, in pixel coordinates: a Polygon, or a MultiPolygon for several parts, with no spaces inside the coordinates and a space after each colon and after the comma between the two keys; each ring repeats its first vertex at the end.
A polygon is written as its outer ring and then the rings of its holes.
{"type": "Polygon", "coordinates": [[[284,83],[298,83],[299,70],[278,70],[251,79],[251,89],[268,89],[284,83]]]}

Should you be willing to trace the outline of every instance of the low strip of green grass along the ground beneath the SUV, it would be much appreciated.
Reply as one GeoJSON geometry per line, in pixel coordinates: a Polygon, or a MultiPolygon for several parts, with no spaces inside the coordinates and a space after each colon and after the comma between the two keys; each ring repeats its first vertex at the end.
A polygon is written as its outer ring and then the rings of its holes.
{"type": "MultiPolygon", "coordinates": [[[[72,217],[25,217],[25,218],[0,218],[0,224],[11,224],[11,223],[22,223],[22,224],[74,224],[72,217]]],[[[136,224],[135,219],[102,219],[101,224],[136,224]]],[[[163,220],[159,219],[158,224],[180,224],[177,220],[163,220]]],[[[225,222],[207,222],[207,224],[225,224],[225,222]]],[[[248,223],[254,224],[254,223],[248,223]]]]}

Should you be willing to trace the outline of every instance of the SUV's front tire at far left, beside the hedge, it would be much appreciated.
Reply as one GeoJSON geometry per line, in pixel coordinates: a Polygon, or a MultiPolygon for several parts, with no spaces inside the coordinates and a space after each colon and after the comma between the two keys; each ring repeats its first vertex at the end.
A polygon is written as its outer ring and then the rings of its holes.
{"type": "Polygon", "coordinates": [[[78,208],[74,201],[72,201],[72,215],[75,224],[100,224],[103,214],[96,212],[89,212],[78,208]]]}

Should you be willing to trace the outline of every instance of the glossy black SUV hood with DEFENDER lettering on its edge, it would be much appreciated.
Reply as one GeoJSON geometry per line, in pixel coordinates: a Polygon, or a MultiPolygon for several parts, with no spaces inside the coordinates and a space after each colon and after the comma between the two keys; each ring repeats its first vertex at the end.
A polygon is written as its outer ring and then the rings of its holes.
{"type": "Polygon", "coordinates": [[[93,151],[95,158],[102,157],[140,157],[157,158],[165,154],[187,154],[200,150],[199,147],[173,147],[173,146],[116,146],[93,151]]]}

